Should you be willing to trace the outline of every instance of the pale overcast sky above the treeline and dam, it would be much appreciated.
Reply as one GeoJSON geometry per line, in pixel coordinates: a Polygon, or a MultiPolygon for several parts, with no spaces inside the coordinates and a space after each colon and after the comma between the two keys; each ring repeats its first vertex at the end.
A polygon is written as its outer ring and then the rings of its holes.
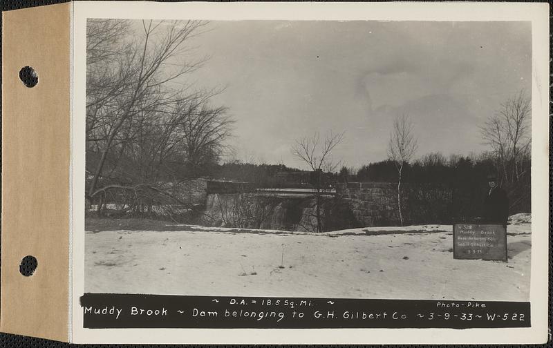
{"type": "Polygon", "coordinates": [[[359,167],[386,159],[396,115],[419,148],[467,155],[500,103],[531,91],[529,22],[214,21],[195,39],[198,86],[226,86],[214,103],[236,119],[240,160],[302,166],[290,146],[345,132],[334,157],[359,167]]]}

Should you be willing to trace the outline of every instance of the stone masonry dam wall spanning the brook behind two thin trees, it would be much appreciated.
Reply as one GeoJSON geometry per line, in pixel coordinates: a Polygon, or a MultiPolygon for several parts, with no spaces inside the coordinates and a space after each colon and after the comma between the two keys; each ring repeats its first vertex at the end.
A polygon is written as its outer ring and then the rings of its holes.
{"type": "MultiPolygon", "coordinates": [[[[315,200],[263,197],[247,185],[194,181],[189,200],[205,204],[204,224],[255,229],[310,231],[315,200]]],[[[184,188],[183,188],[184,189],[184,188]]],[[[185,190],[186,191],[186,190],[185,190]]],[[[449,224],[451,188],[437,184],[402,184],[402,215],[407,224],[449,224]]],[[[336,187],[336,197],[321,207],[328,231],[366,226],[399,226],[397,183],[350,182],[336,187]]]]}

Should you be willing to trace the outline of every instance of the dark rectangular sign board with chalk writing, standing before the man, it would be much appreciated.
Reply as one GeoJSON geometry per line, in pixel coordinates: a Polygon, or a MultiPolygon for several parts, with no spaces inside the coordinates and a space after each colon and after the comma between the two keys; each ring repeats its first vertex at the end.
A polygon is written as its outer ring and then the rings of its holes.
{"type": "Polygon", "coordinates": [[[507,231],[496,224],[454,224],[453,258],[507,261],[507,231]]]}

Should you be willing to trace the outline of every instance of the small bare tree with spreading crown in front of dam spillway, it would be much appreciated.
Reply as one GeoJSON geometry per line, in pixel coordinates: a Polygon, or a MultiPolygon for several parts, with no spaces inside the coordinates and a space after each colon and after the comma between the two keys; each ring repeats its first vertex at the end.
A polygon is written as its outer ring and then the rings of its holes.
{"type": "Polygon", "coordinates": [[[319,133],[315,133],[312,137],[298,139],[296,144],[292,146],[294,156],[307,164],[315,175],[312,185],[315,189],[315,218],[317,222],[315,228],[317,232],[322,232],[323,230],[321,204],[326,187],[324,186],[324,182],[322,182],[322,174],[323,171],[327,173],[333,172],[339,166],[338,162],[332,161],[330,153],[343,139],[344,132],[335,134],[330,131],[321,142],[319,133]]]}

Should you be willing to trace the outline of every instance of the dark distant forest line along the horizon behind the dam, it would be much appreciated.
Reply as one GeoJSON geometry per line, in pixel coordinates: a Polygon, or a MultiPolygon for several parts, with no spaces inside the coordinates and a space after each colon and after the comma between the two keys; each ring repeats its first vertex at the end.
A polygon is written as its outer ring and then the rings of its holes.
{"type": "MultiPolygon", "coordinates": [[[[530,158],[526,157],[521,167],[530,168],[530,158]]],[[[456,191],[459,195],[479,197],[487,190],[487,175],[497,173],[498,165],[492,153],[480,155],[450,155],[429,153],[412,164],[405,164],[402,181],[413,184],[437,184],[456,191]]],[[[251,164],[231,162],[212,164],[203,173],[219,180],[252,182],[258,187],[274,187],[282,182],[277,173],[297,172],[283,164],[251,164]]],[[[368,163],[361,168],[341,167],[339,173],[328,173],[333,182],[397,182],[397,169],[392,160],[368,163]]],[[[511,213],[530,211],[530,173],[523,173],[519,180],[509,182],[503,175],[500,186],[509,195],[511,213]]]]}

